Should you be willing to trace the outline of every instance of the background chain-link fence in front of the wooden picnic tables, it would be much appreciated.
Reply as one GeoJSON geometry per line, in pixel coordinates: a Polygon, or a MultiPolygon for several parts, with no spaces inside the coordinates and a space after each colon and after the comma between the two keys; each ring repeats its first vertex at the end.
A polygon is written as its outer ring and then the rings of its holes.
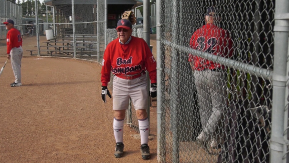
{"type": "MultiPolygon", "coordinates": [[[[105,48],[105,2],[79,3],[53,1],[47,5],[51,15],[37,18],[37,33],[46,35],[46,41],[37,39],[37,49],[31,55],[71,57],[101,62],[105,48]]],[[[39,36],[38,35],[38,36],[39,36]]]]}

